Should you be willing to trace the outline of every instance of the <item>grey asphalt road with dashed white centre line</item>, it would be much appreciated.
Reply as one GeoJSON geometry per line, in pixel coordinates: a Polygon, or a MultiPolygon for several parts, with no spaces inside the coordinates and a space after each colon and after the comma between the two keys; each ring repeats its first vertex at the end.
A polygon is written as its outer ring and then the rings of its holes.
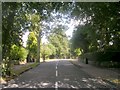
{"type": "Polygon", "coordinates": [[[68,60],[41,63],[5,86],[5,88],[13,87],[56,88],[56,90],[59,88],[114,88],[113,85],[88,75],[68,60]]]}

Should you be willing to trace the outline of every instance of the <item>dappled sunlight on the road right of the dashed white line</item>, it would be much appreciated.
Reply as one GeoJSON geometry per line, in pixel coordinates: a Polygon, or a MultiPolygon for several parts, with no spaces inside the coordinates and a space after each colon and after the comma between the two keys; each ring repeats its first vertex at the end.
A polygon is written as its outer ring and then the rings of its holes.
{"type": "MultiPolygon", "coordinates": [[[[96,78],[82,78],[82,79],[61,79],[58,81],[58,88],[111,88],[111,86],[96,78]]],[[[114,88],[114,87],[113,87],[114,88]]]]}

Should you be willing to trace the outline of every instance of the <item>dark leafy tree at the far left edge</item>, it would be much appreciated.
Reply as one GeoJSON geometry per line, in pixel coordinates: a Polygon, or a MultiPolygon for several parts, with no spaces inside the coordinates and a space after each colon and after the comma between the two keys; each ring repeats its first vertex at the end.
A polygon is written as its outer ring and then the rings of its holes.
{"type": "Polygon", "coordinates": [[[11,47],[22,46],[23,29],[26,28],[22,3],[2,3],[2,59],[6,63],[6,75],[10,76],[11,47]]]}

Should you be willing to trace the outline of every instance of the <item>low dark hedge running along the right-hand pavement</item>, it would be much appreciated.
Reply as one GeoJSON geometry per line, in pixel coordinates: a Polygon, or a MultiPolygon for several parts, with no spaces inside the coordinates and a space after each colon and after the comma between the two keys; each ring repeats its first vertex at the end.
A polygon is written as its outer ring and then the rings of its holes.
{"type": "Polygon", "coordinates": [[[86,53],[80,56],[80,58],[88,58],[89,61],[94,61],[94,64],[102,67],[120,67],[120,52],[115,51],[102,51],[86,53]]]}

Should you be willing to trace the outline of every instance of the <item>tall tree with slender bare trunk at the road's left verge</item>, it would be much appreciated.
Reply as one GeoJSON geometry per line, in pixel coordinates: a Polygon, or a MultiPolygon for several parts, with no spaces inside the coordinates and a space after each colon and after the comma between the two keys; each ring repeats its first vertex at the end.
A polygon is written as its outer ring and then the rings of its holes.
{"type": "MultiPolygon", "coordinates": [[[[24,3],[24,6],[28,7],[26,8],[26,11],[28,12],[26,14],[28,18],[29,25],[31,27],[31,30],[34,31],[36,38],[37,38],[37,61],[40,61],[40,42],[41,38],[45,33],[48,33],[49,29],[47,31],[42,30],[42,21],[46,20],[50,17],[51,12],[55,11],[56,13],[67,11],[66,9],[71,3],[63,3],[63,2],[40,2],[40,3],[24,3]]],[[[65,13],[65,12],[64,12],[65,13]]],[[[52,20],[52,19],[50,19],[52,20]]]]}

